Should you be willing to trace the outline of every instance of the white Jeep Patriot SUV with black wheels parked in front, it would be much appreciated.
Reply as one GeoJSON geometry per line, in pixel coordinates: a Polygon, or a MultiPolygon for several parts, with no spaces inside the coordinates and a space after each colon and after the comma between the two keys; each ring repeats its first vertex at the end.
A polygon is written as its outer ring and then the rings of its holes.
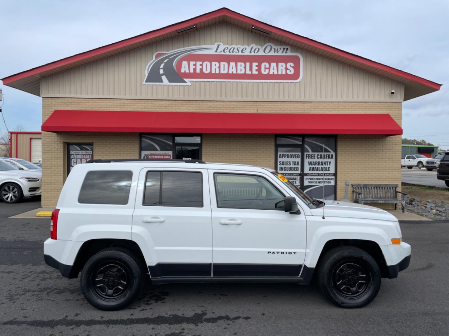
{"type": "Polygon", "coordinates": [[[78,164],[53,211],[45,262],[81,272],[102,310],[134,301],[144,281],[290,282],[316,276],[331,302],[371,302],[381,278],[409,266],[387,211],[309,198],[270,168],[199,160],[78,164]]]}

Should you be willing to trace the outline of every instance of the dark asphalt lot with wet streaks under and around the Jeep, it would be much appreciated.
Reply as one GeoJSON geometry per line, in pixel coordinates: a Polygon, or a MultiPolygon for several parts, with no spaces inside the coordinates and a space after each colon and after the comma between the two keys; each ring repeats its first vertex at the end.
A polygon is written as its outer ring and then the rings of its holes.
{"type": "Polygon", "coordinates": [[[315,285],[147,285],[128,309],[84,301],[78,279],[44,264],[47,219],[9,219],[40,202],[0,202],[0,335],[445,335],[449,327],[449,223],[402,224],[410,267],[383,280],[357,310],[337,308],[315,285]]]}

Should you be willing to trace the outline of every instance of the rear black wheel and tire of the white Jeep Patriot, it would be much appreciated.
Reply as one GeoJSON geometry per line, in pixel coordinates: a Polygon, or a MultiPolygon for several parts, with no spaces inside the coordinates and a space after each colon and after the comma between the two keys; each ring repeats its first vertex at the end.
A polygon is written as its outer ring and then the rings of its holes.
{"type": "Polygon", "coordinates": [[[83,267],[80,284],[87,302],[95,308],[120,310],[134,302],[141,292],[143,272],[131,254],[110,248],[89,258],[83,267]]]}

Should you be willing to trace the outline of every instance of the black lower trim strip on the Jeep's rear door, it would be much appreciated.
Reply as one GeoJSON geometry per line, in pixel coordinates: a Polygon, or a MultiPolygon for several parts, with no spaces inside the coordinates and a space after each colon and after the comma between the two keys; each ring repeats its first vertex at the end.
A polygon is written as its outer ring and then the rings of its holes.
{"type": "Polygon", "coordinates": [[[211,263],[157,263],[148,266],[151,278],[211,276],[211,263]]]}

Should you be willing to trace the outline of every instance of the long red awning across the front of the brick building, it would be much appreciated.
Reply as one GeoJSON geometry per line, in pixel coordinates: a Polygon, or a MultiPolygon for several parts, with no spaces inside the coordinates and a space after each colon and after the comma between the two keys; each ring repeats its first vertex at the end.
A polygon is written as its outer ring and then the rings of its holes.
{"type": "Polygon", "coordinates": [[[389,114],[218,113],[56,110],[47,132],[402,134],[389,114]]]}

